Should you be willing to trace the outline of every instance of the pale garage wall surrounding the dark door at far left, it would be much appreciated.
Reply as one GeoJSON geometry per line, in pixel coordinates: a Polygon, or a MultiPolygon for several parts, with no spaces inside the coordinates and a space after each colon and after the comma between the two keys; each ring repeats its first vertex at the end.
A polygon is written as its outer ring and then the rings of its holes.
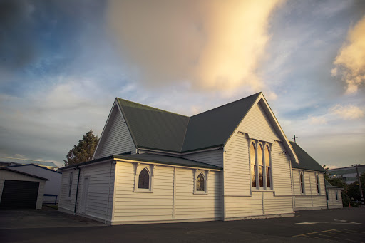
{"type": "Polygon", "coordinates": [[[0,170],[0,202],[5,180],[24,180],[29,182],[39,182],[36,210],[42,209],[45,180],[41,180],[28,175],[21,175],[19,173],[11,172],[9,170],[0,170]]]}

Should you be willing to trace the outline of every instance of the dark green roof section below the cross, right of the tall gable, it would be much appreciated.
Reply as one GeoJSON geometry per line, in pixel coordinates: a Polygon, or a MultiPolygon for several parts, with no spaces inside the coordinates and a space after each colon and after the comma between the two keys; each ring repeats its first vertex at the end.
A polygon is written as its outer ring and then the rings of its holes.
{"type": "Polygon", "coordinates": [[[294,149],[294,152],[297,154],[299,164],[292,161],[292,168],[297,169],[303,169],[303,170],[315,170],[320,172],[326,172],[324,168],[319,165],[319,163],[314,160],[310,155],[307,154],[302,148],[297,145],[297,143],[294,143],[290,141],[290,144],[292,145],[292,148],[294,149]]]}

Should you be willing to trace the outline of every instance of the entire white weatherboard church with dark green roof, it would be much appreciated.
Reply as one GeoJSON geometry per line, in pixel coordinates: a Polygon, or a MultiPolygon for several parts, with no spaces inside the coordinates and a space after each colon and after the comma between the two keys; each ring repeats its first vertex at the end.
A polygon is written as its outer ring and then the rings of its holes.
{"type": "Polygon", "coordinates": [[[311,159],[262,93],[192,117],[116,98],[93,160],[61,169],[58,209],[108,224],[289,217],[328,207],[311,159]]]}

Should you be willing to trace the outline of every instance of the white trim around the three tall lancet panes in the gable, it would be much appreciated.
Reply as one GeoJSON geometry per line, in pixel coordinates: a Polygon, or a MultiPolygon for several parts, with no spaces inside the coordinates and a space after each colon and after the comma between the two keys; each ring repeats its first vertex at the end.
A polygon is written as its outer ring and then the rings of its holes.
{"type": "Polygon", "coordinates": [[[254,139],[250,139],[250,143],[248,143],[248,151],[249,151],[249,172],[250,172],[250,189],[251,192],[252,191],[267,191],[267,192],[274,192],[274,182],[273,182],[273,175],[272,175],[272,143],[269,142],[265,142],[265,141],[260,141],[260,140],[254,140],[254,139]],[[251,144],[254,143],[255,144],[255,165],[256,165],[256,187],[252,187],[252,181],[251,181],[251,144]],[[259,161],[258,161],[258,148],[259,145],[262,145],[262,167],[264,168],[263,170],[263,178],[262,180],[264,180],[264,187],[259,187],[259,161]],[[269,162],[270,162],[270,168],[271,168],[271,176],[270,176],[270,183],[271,183],[271,187],[267,187],[267,181],[266,181],[266,158],[265,158],[265,150],[266,150],[266,146],[269,146],[269,162]]]}

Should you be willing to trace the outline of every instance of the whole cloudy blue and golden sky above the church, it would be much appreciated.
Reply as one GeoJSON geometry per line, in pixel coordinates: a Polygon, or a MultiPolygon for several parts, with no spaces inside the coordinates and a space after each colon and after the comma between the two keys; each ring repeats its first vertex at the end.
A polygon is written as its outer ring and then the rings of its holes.
{"type": "Polygon", "coordinates": [[[259,91],[320,164],[365,164],[365,1],[0,0],[0,157],[63,165],[115,97],[195,115],[259,91]]]}

